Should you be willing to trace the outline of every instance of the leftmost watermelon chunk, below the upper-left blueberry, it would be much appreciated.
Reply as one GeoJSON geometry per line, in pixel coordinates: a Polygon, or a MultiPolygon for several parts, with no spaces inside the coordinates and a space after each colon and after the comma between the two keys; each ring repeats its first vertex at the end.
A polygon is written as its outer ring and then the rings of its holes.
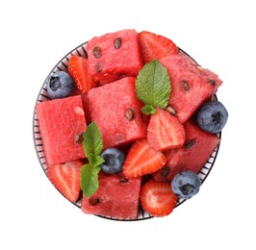
{"type": "Polygon", "coordinates": [[[80,95],[38,103],[36,111],[48,165],[85,158],[78,141],[87,128],[80,95]]]}

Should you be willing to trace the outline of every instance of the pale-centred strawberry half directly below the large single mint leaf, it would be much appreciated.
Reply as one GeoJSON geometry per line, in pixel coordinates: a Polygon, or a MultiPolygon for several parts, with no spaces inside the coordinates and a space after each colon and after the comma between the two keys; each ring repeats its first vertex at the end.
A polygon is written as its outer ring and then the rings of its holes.
{"type": "Polygon", "coordinates": [[[157,108],[147,126],[147,140],[155,150],[165,151],[183,146],[185,130],[170,112],[157,108]]]}

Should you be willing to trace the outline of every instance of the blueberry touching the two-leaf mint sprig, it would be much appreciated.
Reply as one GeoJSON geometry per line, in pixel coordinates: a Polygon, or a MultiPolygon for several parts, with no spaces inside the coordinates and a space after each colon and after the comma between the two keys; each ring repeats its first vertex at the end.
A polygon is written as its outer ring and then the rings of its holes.
{"type": "Polygon", "coordinates": [[[115,174],[122,170],[124,163],[124,154],[116,148],[108,148],[101,154],[101,157],[105,160],[101,164],[101,169],[108,174],[115,174]]]}

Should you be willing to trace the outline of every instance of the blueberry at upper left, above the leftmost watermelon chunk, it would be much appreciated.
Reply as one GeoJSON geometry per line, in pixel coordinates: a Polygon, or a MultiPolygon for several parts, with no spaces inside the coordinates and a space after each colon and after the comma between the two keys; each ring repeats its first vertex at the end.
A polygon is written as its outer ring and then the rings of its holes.
{"type": "Polygon", "coordinates": [[[57,71],[46,81],[48,94],[52,98],[64,98],[68,96],[74,88],[74,81],[66,72],[57,71]]]}

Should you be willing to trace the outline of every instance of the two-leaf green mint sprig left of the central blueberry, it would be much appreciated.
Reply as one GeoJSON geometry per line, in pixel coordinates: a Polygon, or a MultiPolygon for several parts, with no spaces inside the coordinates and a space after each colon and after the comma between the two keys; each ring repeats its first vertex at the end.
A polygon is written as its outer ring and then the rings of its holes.
{"type": "Polygon", "coordinates": [[[100,157],[103,150],[103,142],[100,131],[95,122],[91,122],[84,135],[83,147],[89,163],[81,169],[81,189],[87,198],[99,188],[98,173],[100,165],[105,162],[100,157]]]}

